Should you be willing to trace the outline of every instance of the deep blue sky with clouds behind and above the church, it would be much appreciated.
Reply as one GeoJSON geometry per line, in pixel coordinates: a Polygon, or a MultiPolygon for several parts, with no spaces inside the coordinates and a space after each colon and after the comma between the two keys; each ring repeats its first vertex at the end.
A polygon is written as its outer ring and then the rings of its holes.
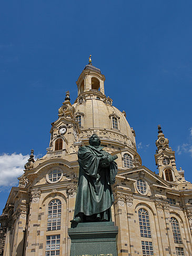
{"type": "Polygon", "coordinates": [[[157,125],[192,181],[191,1],[1,1],[0,211],[27,154],[44,155],[50,123],[88,56],[126,111],[143,164],[156,171],[157,125]]]}

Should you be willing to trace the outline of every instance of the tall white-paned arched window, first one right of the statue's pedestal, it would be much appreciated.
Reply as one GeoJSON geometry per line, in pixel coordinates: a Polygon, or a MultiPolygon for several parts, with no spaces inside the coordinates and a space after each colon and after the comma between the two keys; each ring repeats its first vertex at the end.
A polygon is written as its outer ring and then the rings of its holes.
{"type": "Polygon", "coordinates": [[[140,236],[143,238],[151,238],[148,212],[143,208],[141,208],[138,211],[138,215],[139,215],[140,236]]]}

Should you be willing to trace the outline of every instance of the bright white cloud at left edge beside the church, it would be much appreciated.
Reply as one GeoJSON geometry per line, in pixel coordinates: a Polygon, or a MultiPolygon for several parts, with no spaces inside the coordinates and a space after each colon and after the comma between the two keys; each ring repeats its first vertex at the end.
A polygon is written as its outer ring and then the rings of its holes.
{"type": "Polygon", "coordinates": [[[29,155],[6,154],[0,155],[0,186],[17,185],[17,178],[24,172],[24,164],[26,164],[29,155]]]}

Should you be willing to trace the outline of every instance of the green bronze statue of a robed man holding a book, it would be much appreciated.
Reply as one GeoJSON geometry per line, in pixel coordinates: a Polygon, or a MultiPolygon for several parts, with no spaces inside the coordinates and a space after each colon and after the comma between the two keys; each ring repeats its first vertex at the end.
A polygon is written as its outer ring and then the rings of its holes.
{"type": "Polygon", "coordinates": [[[114,198],[110,185],[115,183],[117,156],[103,150],[96,134],[89,144],[78,150],[79,180],[72,223],[111,221],[114,198]]]}

